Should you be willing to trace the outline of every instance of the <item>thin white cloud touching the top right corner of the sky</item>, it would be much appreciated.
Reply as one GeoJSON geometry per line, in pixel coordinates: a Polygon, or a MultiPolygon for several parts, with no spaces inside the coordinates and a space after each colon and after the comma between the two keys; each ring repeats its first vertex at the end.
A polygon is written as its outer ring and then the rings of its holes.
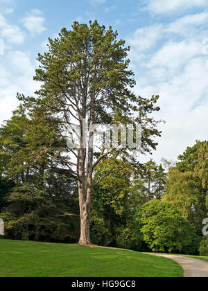
{"type": "Polygon", "coordinates": [[[208,6],[207,0],[148,0],[147,2],[146,9],[158,14],[208,6]]]}

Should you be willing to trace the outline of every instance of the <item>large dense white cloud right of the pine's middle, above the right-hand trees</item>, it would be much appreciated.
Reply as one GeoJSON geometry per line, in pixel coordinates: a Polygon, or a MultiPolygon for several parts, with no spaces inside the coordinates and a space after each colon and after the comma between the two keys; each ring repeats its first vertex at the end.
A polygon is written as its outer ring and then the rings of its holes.
{"type": "Polygon", "coordinates": [[[137,92],[144,96],[160,96],[161,112],[156,116],[166,124],[162,125],[162,138],[158,139],[153,157],[158,162],[161,157],[176,160],[196,139],[207,139],[208,59],[206,56],[193,58],[180,73],[167,74],[166,80],[155,82],[151,75],[152,70],[143,77],[143,83],[138,80],[137,92]]]}

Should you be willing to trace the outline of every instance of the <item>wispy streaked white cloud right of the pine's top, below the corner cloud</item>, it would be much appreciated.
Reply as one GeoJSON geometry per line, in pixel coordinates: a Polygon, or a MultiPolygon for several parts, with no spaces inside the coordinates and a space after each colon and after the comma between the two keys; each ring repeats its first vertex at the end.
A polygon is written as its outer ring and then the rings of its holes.
{"type": "Polygon", "coordinates": [[[181,17],[169,24],[138,28],[127,39],[131,46],[130,59],[146,62],[146,67],[154,67],[160,62],[164,73],[166,67],[177,68],[180,62],[185,63],[189,58],[202,53],[202,40],[207,37],[207,23],[208,13],[202,12],[181,17]],[[159,45],[161,48],[153,55],[153,50],[159,45]]]}

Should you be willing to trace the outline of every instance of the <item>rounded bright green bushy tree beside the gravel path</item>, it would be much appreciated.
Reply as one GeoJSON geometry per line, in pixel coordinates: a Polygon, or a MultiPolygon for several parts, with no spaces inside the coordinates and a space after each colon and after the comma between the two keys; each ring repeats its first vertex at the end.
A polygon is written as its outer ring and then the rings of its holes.
{"type": "Polygon", "coordinates": [[[169,202],[152,200],[137,211],[133,241],[144,240],[153,252],[196,254],[200,238],[169,202]]]}

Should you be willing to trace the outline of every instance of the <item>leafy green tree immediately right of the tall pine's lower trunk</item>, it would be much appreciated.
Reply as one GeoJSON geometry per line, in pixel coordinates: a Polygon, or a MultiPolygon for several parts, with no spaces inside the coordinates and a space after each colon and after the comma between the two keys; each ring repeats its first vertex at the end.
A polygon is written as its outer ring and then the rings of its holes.
{"type": "MultiPolygon", "coordinates": [[[[107,173],[113,159],[105,159],[96,168],[97,175],[107,173]]],[[[130,233],[130,177],[132,166],[116,160],[115,170],[105,177],[95,188],[92,195],[91,232],[92,241],[97,245],[127,247],[130,233]],[[127,237],[127,239],[125,239],[127,237]]]]}

